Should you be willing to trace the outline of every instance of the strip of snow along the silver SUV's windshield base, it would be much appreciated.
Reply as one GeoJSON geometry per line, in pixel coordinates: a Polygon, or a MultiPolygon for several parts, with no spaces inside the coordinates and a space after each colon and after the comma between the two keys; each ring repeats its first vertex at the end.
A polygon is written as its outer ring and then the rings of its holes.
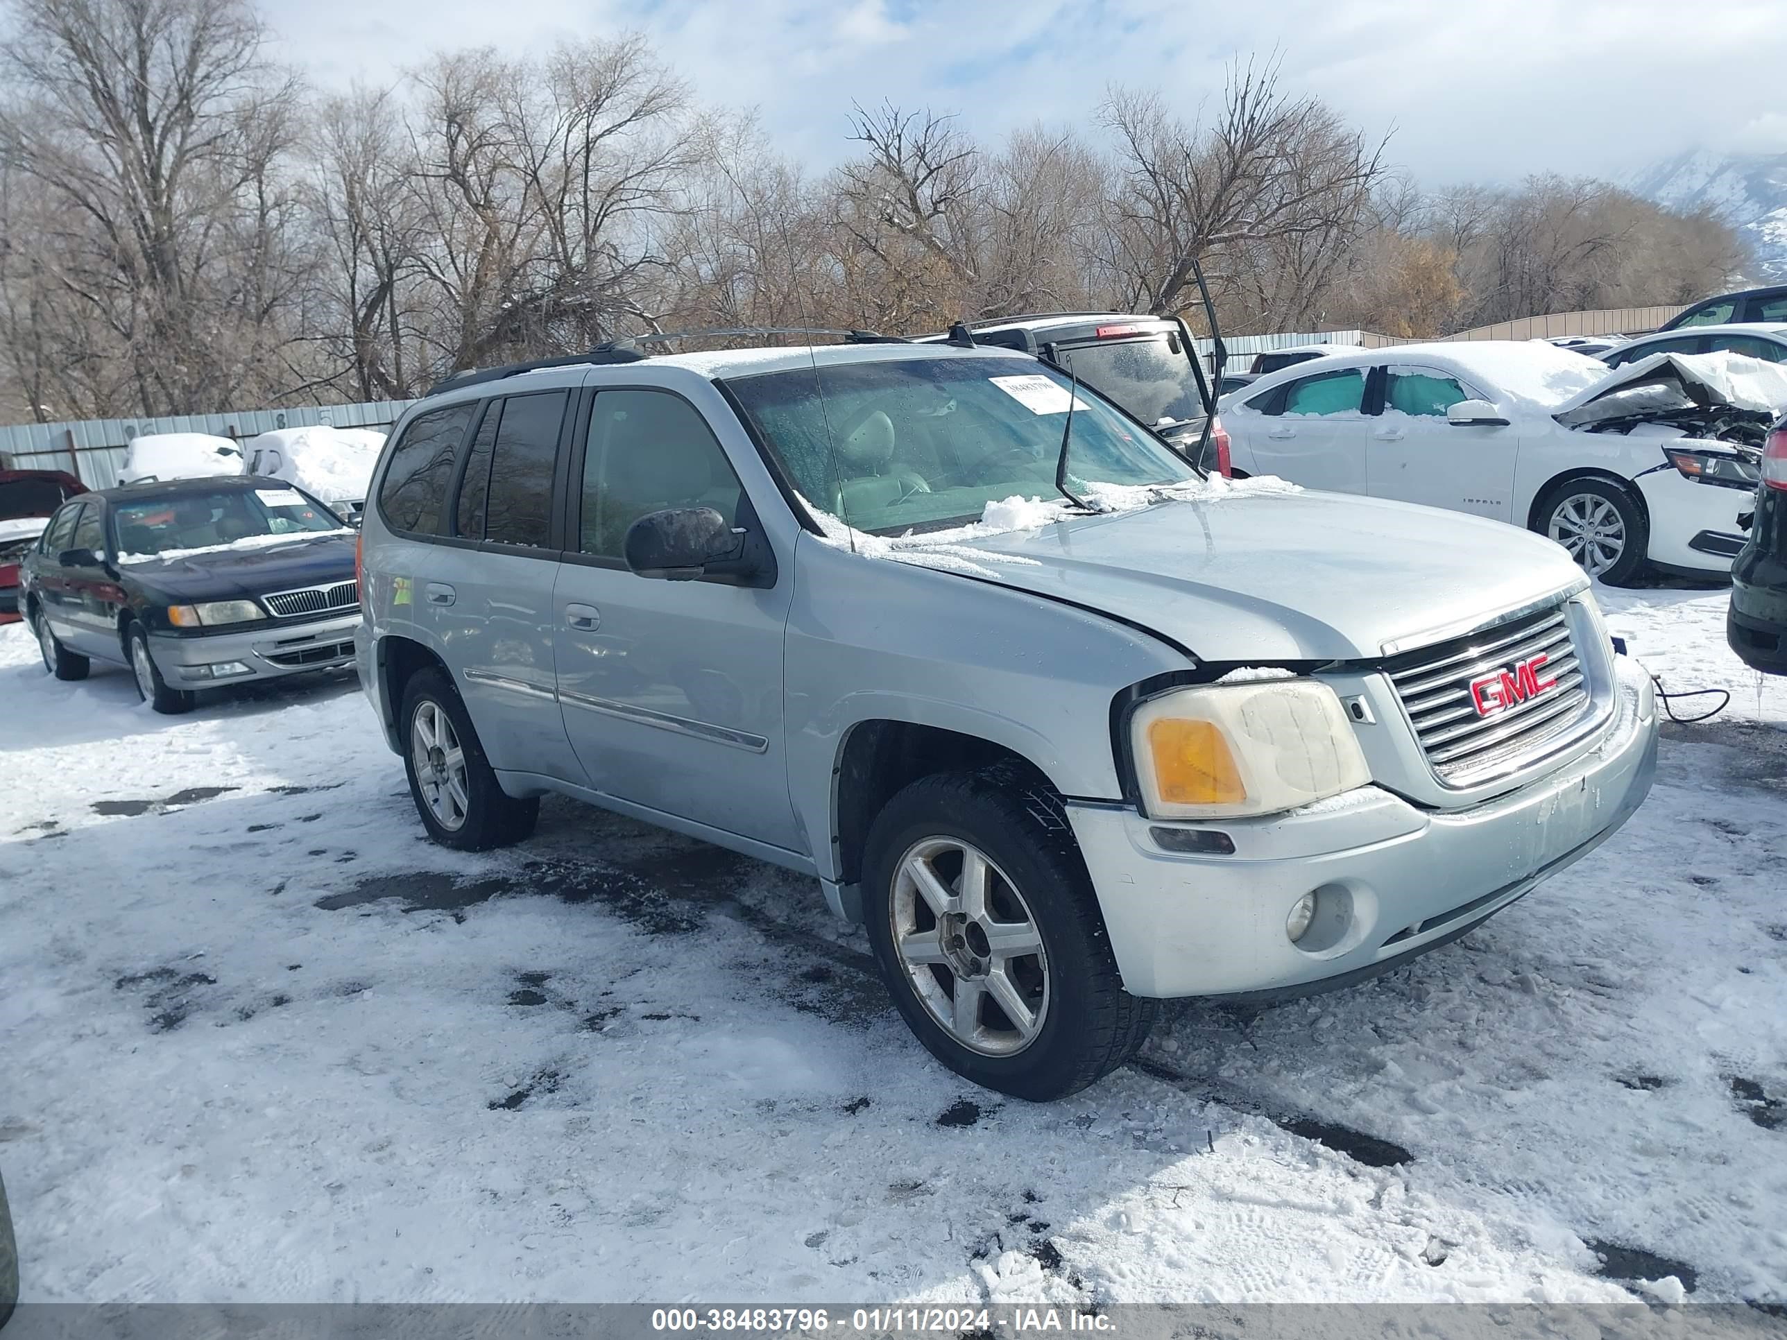
{"type": "MultiPolygon", "coordinates": [[[[1253,497],[1265,493],[1301,493],[1292,484],[1276,475],[1256,475],[1253,479],[1187,479],[1179,484],[1085,484],[1081,497],[1097,506],[1097,513],[1085,513],[1067,498],[1026,498],[1011,495],[988,502],[981,511],[981,520],[969,525],[952,525],[947,531],[926,531],[924,534],[906,532],[902,536],[877,536],[842,522],[827,511],[820,511],[806,498],[802,506],[813,513],[820,525],[820,538],[840,549],[849,549],[868,557],[894,559],[895,563],[913,563],[920,568],[940,568],[960,572],[969,577],[995,577],[997,572],[988,563],[1006,563],[1020,566],[1038,566],[1036,559],[1017,554],[994,554],[976,549],[974,540],[992,540],[994,536],[1015,531],[1038,531],[1054,522],[1070,522],[1088,515],[1113,516],[1126,511],[1140,511],[1158,502],[1215,502],[1221,498],[1253,497]]],[[[797,495],[799,497],[799,495],[797,495]]]]}

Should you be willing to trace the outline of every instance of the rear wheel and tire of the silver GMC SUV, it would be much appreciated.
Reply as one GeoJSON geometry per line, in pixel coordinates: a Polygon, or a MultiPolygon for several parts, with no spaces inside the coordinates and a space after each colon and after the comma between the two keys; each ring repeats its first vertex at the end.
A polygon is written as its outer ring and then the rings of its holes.
{"type": "Polygon", "coordinates": [[[445,674],[418,670],[409,677],[400,722],[409,799],[434,842],[484,852],[513,847],[534,831],[540,797],[516,800],[502,790],[445,674]]]}

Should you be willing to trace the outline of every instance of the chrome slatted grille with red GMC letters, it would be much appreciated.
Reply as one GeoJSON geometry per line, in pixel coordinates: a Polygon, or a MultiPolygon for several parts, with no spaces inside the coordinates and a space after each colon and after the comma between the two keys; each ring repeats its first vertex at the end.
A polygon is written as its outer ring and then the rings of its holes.
{"type": "Polygon", "coordinates": [[[1594,709],[1564,606],[1406,652],[1383,668],[1428,763],[1451,786],[1519,770],[1594,709]],[[1523,686],[1519,666],[1539,656],[1523,686]]]}

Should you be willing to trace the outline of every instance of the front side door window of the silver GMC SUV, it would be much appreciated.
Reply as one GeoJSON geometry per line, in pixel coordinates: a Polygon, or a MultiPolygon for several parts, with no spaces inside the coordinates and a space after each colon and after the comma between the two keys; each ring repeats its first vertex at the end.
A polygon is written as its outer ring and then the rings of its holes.
{"type": "Polygon", "coordinates": [[[622,557],[627,527],[665,507],[713,507],[727,525],[742,495],[731,461],[688,400],[668,391],[602,391],[583,465],[584,554],[622,557]]]}

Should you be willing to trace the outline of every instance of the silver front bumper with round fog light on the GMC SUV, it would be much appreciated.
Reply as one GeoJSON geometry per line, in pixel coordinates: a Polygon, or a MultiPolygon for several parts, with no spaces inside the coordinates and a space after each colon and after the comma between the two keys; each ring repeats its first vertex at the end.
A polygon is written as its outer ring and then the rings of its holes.
{"type": "MultiPolygon", "coordinates": [[[[1221,827],[1231,856],[1163,850],[1133,809],[1069,806],[1112,951],[1133,995],[1301,995],[1369,977],[1456,938],[1589,854],[1657,770],[1649,677],[1619,661],[1608,736],[1569,766],[1458,811],[1376,786],[1221,827]],[[1301,943],[1285,918],[1317,892],[1301,943]]],[[[1187,825],[1188,827],[1188,825],[1187,825]]]]}

